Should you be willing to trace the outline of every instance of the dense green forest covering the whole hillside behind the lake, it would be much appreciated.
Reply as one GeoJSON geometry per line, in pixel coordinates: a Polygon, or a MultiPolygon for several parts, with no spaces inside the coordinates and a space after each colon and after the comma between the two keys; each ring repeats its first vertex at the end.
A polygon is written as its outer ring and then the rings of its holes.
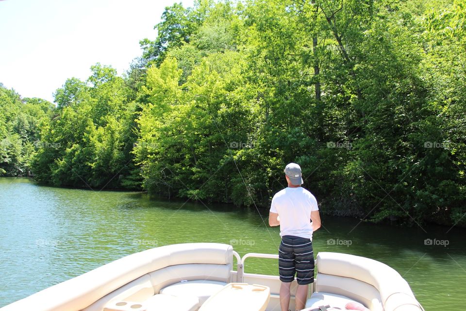
{"type": "Polygon", "coordinates": [[[463,1],[200,0],[154,28],[55,104],[0,85],[0,174],[266,208],[296,162],[323,213],[466,225],[463,1]]]}

